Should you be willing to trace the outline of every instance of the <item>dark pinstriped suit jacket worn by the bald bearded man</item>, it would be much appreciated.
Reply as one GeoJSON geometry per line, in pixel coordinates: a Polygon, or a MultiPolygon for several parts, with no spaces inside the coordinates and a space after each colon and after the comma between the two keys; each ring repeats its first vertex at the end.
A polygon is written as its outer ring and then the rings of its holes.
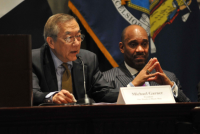
{"type": "MultiPolygon", "coordinates": [[[[178,86],[178,97],[175,98],[177,102],[190,102],[190,99],[185,96],[185,94],[181,90],[181,85],[179,80],[176,78],[174,73],[171,73],[169,71],[163,70],[164,73],[167,75],[167,77],[171,80],[176,82],[176,85],[178,86]]],[[[154,73],[154,71],[152,71],[154,73]]],[[[133,81],[133,76],[126,68],[125,64],[120,65],[119,67],[113,68],[111,70],[108,70],[106,72],[103,72],[104,78],[113,83],[113,86],[115,88],[119,87],[126,87],[131,81],[133,81]]],[[[156,82],[149,82],[151,86],[159,85],[156,82]]]]}

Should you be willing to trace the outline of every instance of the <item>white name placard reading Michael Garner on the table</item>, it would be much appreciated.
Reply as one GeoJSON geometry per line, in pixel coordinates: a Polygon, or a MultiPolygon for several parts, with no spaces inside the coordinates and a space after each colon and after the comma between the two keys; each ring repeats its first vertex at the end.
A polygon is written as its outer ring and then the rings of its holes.
{"type": "Polygon", "coordinates": [[[164,104],[176,103],[171,86],[122,87],[117,104],[164,104]]]}

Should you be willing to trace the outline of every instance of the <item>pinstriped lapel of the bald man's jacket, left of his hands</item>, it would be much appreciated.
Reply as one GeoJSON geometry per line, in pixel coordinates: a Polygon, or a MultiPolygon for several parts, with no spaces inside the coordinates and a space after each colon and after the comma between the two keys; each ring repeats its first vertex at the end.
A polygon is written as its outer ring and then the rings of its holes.
{"type": "Polygon", "coordinates": [[[121,82],[124,87],[126,87],[133,80],[133,76],[124,64],[120,65],[119,68],[119,75],[116,78],[121,82]]]}

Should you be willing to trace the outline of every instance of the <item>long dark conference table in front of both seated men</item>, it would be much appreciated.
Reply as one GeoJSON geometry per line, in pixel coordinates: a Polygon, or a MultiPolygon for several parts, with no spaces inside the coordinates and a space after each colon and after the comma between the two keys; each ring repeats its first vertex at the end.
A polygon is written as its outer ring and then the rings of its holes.
{"type": "Polygon", "coordinates": [[[198,134],[200,103],[1,107],[2,134],[198,134]]]}

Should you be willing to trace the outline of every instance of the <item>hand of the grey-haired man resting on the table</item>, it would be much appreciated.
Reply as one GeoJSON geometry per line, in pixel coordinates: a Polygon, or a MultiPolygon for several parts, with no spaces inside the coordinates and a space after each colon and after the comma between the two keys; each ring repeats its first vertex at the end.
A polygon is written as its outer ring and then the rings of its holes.
{"type": "Polygon", "coordinates": [[[69,91],[62,89],[53,96],[52,100],[56,104],[72,103],[74,102],[74,96],[69,91]]]}

